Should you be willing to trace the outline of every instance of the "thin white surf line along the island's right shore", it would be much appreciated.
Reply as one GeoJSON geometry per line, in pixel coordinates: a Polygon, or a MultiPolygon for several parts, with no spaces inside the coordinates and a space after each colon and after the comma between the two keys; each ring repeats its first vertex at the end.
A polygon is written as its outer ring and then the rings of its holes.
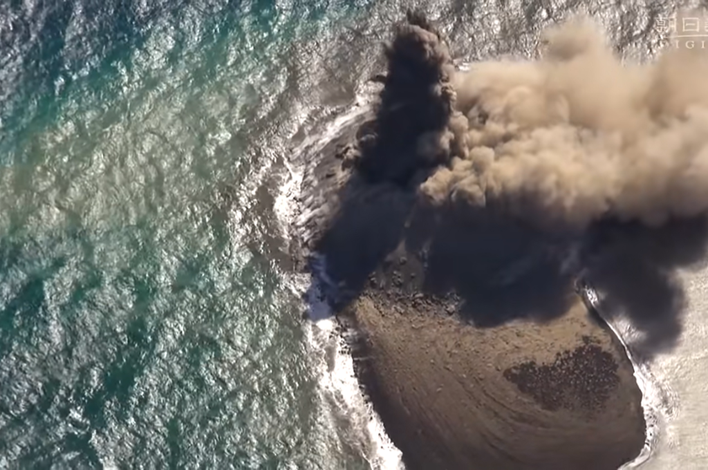
{"type": "Polygon", "coordinates": [[[590,311],[590,314],[595,315],[598,319],[603,321],[605,325],[607,325],[607,328],[610,328],[610,331],[612,331],[615,337],[619,340],[619,343],[622,343],[622,347],[624,348],[624,352],[627,354],[629,362],[632,362],[634,379],[636,379],[636,384],[639,386],[639,391],[641,391],[641,408],[644,410],[646,434],[644,437],[644,447],[641,449],[641,452],[639,452],[639,455],[631,462],[627,462],[619,467],[618,470],[636,469],[651,458],[658,440],[658,410],[650,399],[651,395],[656,395],[651,393],[655,385],[648,377],[648,374],[642,370],[643,368],[641,365],[636,362],[632,356],[632,351],[629,349],[629,346],[627,346],[627,343],[624,341],[624,338],[622,338],[622,335],[619,334],[619,331],[615,325],[613,325],[607,317],[603,316],[602,310],[600,309],[600,295],[585,277],[581,276],[576,280],[576,292],[578,292],[578,295],[580,295],[581,299],[583,299],[583,303],[586,305],[588,311],[590,311]]]}

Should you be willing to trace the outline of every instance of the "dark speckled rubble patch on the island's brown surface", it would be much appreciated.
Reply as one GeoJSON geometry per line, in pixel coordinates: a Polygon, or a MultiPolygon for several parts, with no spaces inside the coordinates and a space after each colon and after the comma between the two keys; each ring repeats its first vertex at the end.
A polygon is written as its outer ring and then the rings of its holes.
{"type": "Polygon", "coordinates": [[[619,384],[617,369],[610,352],[586,341],[572,352],[558,353],[550,365],[524,362],[503,375],[549,411],[599,411],[619,384]]]}

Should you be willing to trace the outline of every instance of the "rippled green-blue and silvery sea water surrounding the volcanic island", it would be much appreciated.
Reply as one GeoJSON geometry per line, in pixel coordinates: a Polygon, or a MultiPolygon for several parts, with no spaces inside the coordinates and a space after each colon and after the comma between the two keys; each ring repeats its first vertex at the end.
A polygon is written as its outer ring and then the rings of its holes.
{"type": "MultiPolygon", "coordinates": [[[[365,108],[411,6],[462,64],[573,11],[644,57],[673,4],[0,0],[0,468],[401,466],[287,248],[304,149],[365,108]]],[[[704,468],[691,282],[646,366],[675,394],[649,468],[704,468]]]]}

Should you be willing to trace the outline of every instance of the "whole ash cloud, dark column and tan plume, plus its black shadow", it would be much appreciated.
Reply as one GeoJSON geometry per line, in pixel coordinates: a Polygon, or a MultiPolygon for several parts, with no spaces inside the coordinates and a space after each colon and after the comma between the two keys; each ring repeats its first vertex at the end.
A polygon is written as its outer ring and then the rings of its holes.
{"type": "Polygon", "coordinates": [[[582,272],[647,354],[675,344],[673,273],[707,251],[695,73],[708,68],[683,51],[625,67],[593,31],[569,23],[546,36],[547,59],[457,72],[421,14],[397,25],[375,119],[343,156],[354,170],[314,246],[340,304],[377,287],[455,299],[481,327],[547,321],[582,272]],[[611,80],[593,83],[598,67],[611,80]]]}

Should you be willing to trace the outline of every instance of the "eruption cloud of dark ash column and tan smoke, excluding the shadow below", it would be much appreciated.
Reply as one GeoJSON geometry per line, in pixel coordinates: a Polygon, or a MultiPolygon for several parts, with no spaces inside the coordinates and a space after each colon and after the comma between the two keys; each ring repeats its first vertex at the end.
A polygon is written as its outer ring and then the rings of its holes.
{"type": "Polygon", "coordinates": [[[433,204],[498,207],[543,229],[707,212],[703,50],[673,41],[652,63],[624,64],[575,18],[543,33],[540,59],[455,71],[438,33],[409,21],[387,49],[363,173],[406,183],[422,168],[433,204]]]}

